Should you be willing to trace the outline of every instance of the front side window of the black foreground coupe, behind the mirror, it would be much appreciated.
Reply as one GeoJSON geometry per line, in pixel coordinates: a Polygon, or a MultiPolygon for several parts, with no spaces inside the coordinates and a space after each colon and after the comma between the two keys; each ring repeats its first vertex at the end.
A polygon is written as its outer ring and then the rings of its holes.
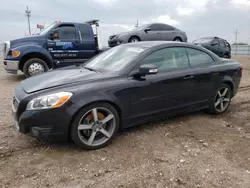
{"type": "Polygon", "coordinates": [[[153,52],[143,59],[141,65],[143,64],[155,65],[158,72],[168,72],[173,69],[189,67],[186,50],[181,47],[164,48],[153,52]]]}

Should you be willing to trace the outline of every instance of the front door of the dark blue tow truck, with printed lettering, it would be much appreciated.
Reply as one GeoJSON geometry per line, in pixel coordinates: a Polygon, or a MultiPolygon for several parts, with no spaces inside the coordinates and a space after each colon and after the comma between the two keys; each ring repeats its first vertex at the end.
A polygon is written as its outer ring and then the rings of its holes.
{"type": "Polygon", "coordinates": [[[48,38],[48,50],[53,60],[60,61],[60,66],[70,65],[73,59],[79,58],[77,50],[79,37],[76,27],[74,24],[61,24],[55,29],[57,29],[58,38],[48,38]]]}

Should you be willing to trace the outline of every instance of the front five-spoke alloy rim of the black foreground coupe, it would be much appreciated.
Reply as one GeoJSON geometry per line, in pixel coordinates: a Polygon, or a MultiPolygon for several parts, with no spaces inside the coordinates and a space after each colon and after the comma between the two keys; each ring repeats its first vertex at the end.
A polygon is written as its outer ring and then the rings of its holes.
{"type": "Polygon", "coordinates": [[[96,107],[86,112],[78,123],[78,136],[88,146],[106,143],[114,134],[116,121],[107,108],[96,107]]]}

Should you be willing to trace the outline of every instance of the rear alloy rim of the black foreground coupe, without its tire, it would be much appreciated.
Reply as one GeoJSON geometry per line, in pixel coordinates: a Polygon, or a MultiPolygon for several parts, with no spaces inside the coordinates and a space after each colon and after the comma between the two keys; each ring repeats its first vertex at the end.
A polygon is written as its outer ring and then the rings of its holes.
{"type": "Polygon", "coordinates": [[[219,89],[215,97],[215,103],[214,103],[215,109],[218,112],[224,112],[230,103],[231,100],[230,97],[231,97],[230,90],[227,87],[219,89]]]}

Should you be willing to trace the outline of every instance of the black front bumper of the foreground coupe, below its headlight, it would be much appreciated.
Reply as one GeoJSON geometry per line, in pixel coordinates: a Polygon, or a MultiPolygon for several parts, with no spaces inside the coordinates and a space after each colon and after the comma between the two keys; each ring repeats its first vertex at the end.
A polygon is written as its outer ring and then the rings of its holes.
{"type": "Polygon", "coordinates": [[[12,108],[15,129],[23,134],[51,141],[67,141],[72,115],[66,109],[18,112],[12,108]]]}

